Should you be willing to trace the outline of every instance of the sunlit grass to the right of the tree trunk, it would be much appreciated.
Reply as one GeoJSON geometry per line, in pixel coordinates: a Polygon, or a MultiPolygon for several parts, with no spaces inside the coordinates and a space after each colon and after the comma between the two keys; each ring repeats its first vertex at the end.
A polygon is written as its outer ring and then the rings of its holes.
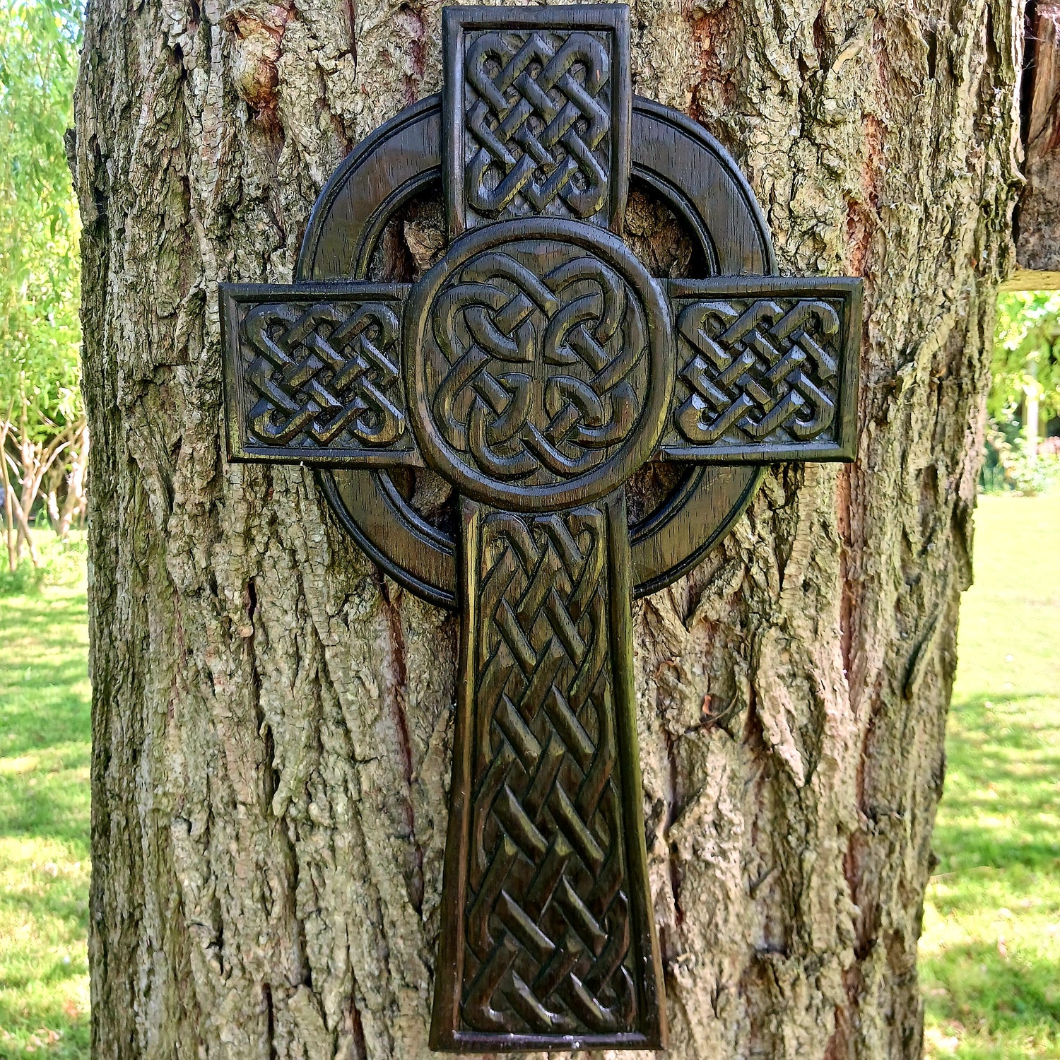
{"type": "Polygon", "coordinates": [[[1060,496],[982,497],[920,978],[929,1057],[1060,1058],[1060,496]]]}

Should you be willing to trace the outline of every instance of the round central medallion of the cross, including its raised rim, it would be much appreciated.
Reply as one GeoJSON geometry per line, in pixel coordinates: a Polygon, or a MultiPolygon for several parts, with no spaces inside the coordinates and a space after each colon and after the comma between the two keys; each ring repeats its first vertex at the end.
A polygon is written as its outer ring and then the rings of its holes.
{"type": "Polygon", "coordinates": [[[666,299],[603,229],[527,218],[461,236],[412,288],[404,331],[421,450],[475,500],[517,511],[594,500],[662,434],[666,299]]]}

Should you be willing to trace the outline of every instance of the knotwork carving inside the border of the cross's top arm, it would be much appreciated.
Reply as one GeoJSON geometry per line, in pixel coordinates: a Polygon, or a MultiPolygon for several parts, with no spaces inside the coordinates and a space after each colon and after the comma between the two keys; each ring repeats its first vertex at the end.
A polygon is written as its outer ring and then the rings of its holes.
{"type": "Polygon", "coordinates": [[[604,208],[611,166],[606,35],[485,32],[464,58],[469,206],[487,217],[604,208]]]}

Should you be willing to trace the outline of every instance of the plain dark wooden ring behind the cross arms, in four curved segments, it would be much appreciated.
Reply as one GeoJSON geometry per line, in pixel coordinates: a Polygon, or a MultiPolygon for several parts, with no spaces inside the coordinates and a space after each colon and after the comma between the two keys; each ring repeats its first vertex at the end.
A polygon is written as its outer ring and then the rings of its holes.
{"type": "MultiPolygon", "coordinates": [[[[379,126],[320,193],[296,269],[300,282],[364,280],[390,220],[413,198],[441,191],[441,96],[379,126]],[[326,233],[341,227],[342,241],[326,233]]],[[[631,177],[684,223],[704,278],[776,270],[768,228],[728,153],[701,126],[634,96],[631,177]]],[[[457,605],[456,541],[428,523],[387,471],[318,471],[342,526],[395,581],[435,603],[457,605]]],[[[634,596],[694,567],[750,502],[754,465],[691,465],[672,493],[630,528],[634,596]]]]}

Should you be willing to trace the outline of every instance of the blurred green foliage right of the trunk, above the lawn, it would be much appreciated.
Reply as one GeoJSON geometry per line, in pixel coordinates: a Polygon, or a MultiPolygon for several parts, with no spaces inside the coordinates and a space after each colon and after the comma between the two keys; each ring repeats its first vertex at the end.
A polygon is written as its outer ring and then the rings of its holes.
{"type": "Polygon", "coordinates": [[[988,492],[1060,484],[1060,292],[1005,292],[987,400],[988,492]]]}

